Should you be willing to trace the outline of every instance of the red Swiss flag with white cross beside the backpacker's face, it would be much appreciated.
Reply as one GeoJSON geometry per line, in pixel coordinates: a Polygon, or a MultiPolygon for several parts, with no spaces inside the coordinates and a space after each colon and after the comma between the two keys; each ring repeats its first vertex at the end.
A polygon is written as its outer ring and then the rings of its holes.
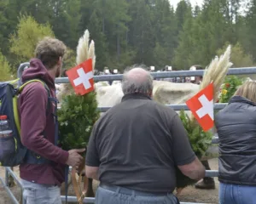
{"type": "Polygon", "coordinates": [[[88,59],[67,71],[67,77],[71,82],[75,93],[79,95],[88,94],[94,90],[92,71],[92,59],[88,59]]]}

